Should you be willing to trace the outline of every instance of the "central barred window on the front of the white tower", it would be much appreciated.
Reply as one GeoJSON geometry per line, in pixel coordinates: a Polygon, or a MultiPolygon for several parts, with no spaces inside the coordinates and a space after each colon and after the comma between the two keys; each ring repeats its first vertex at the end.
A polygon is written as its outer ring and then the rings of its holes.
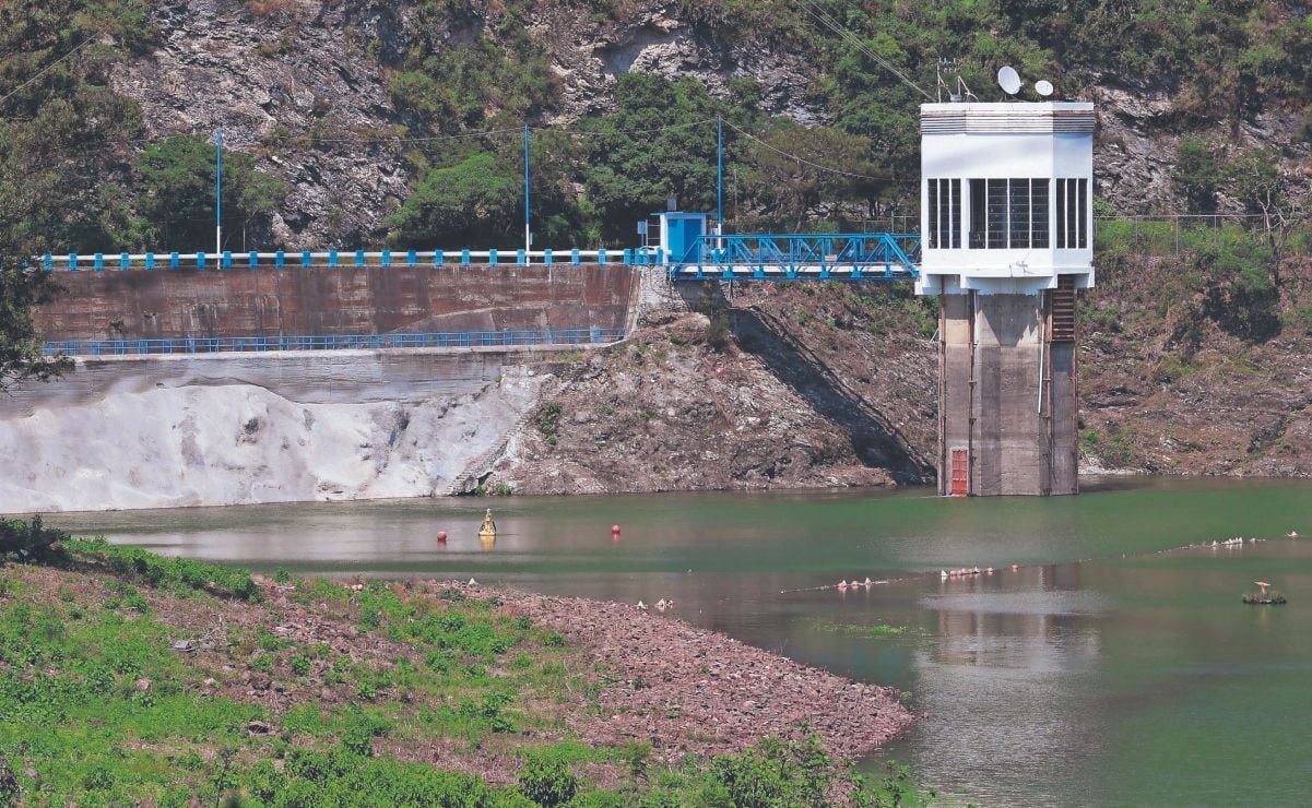
{"type": "Polygon", "coordinates": [[[1048,247],[1048,180],[971,180],[972,249],[1048,247]]]}

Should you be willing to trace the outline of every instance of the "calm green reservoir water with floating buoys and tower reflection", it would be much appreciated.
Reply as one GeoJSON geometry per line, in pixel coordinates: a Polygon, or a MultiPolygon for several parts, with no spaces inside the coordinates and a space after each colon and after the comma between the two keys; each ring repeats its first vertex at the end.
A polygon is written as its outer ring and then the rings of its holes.
{"type": "Polygon", "coordinates": [[[1052,498],[405,500],[47,523],[266,572],[674,598],[693,623],[907,691],[922,717],[882,754],[947,803],[1309,799],[1308,483],[1093,480],[1078,497],[1052,498]],[[487,506],[499,525],[492,548],[476,536],[487,506]],[[438,530],[450,534],[445,547],[438,530]],[[1291,530],[1307,538],[1284,538],[1291,530]],[[1210,546],[1236,535],[1263,540],[1210,546]],[[994,572],[939,576],[976,565],[994,572]],[[867,576],[887,582],[815,589],[867,576]],[[1256,580],[1290,603],[1242,605],[1256,580]]]}

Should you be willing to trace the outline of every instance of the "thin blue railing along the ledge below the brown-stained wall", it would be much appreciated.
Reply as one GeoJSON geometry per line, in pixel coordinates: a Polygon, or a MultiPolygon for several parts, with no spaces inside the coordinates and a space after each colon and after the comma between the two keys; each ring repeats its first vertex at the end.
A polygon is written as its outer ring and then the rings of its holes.
{"type": "Polygon", "coordinates": [[[535,348],[605,345],[625,338],[623,328],[558,328],[463,331],[386,334],[320,334],[274,337],[177,337],[163,340],[56,340],[45,354],[106,357],[136,354],[207,354],[269,350],[350,350],[395,348],[535,348]]]}

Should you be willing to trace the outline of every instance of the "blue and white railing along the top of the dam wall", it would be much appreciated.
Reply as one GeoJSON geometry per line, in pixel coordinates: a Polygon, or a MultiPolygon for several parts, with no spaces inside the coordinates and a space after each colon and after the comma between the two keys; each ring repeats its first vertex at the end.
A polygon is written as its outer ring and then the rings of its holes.
{"type": "Polygon", "coordinates": [[[47,272],[147,272],[168,269],[310,269],[312,266],[525,266],[529,264],[661,264],[657,248],[630,249],[382,249],[382,251],[277,251],[277,252],[164,252],[164,253],[93,253],[45,254],[41,268],[47,272]]]}

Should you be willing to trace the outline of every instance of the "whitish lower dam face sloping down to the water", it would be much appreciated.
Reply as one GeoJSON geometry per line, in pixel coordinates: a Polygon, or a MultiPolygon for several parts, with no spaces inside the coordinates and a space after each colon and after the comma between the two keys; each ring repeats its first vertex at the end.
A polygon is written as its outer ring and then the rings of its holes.
{"type": "Polygon", "coordinates": [[[96,362],[29,388],[0,411],[0,513],[441,495],[544,382],[495,355],[350,354],[96,362]]]}

